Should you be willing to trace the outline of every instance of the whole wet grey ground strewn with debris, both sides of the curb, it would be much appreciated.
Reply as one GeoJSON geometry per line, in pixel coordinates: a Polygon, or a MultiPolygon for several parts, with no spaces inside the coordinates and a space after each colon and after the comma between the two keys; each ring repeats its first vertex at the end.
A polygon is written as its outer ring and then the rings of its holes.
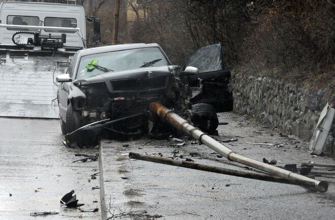
{"type": "MultiPolygon", "coordinates": [[[[281,137],[276,130],[233,113],[219,116],[220,122],[229,125],[219,126],[218,138],[238,139],[225,145],[239,154],[256,160],[276,158],[280,166],[309,160],[334,164],[330,158],[309,155],[307,144],[300,139],[281,137]],[[284,146],[246,142],[279,142],[284,146]]],[[[43,219],[101,219],[100,192],[91,189],[99,186],[100,180],[109,217],[114,213],[125,219],[333,219],[335,215],[334,178],[321,178],[329,182],[329,189],[318,193],[299,186],[123,158],[122,154],[131,151],[161,153],[164,157],[174,157],[173,152],[178,151],[177,157],[183,155],[183,159],[197,163],[246,170],[191,140],[176,146],[171,140],[141,138],[103,141],[100,162],[104,178],[97,176],[88,182],[90,175],[99,171],[98,161],[72,163],[79,159],[74,154],[94,155],[98,149],[65,148],[58,120],[0,118],[0,124],[0,219],[36,219],[29,213],[43,211],[60,212],[43,219]],[[191,157],[191,152],[198,155],[191,157]],[[85,203],[83,209],[99,208],[99,212],[60,208],[60,198],[71,190],[75,190],[79,203],[85,203]]]]}

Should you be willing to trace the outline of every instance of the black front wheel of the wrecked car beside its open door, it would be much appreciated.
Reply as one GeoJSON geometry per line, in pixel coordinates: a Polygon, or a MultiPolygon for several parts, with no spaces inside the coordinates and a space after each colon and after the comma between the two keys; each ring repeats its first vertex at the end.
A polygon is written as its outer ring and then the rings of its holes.
{"type": "Polygon", "coordinates": [[[208,133],[215,132],[219,126],[219,119],[212,105],[207,103],[193,104],[191,111],[194,126],[208,133]]]}

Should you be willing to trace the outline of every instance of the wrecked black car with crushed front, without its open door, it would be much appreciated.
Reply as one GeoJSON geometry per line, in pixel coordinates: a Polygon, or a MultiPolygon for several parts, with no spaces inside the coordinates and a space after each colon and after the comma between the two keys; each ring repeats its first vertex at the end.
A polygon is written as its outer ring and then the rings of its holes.
{"type": "Polygon", "coordinates": [[[73,139],[77,145],[96,144],[102,136],[127,139],[148,132],[168,132],[170,128],[149,116],[149,103],[154,101],[184,114],[205,131],[215,131],[218,119],[214,107],[190,102],[203,93],[203,80],[197,75],[198,68],[192,66],[178,71],[157,44],[76,52],[66,74],[56,79],[60,83],[57,98],[66,145],[72,145],[73,139]]]}

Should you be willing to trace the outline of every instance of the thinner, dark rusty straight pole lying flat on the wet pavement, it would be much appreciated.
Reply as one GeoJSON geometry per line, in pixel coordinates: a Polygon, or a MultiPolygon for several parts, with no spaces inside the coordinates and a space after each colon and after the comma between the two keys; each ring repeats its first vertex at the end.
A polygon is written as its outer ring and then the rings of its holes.
{"type": "Polygon", "coordinates": [[[136,160],[149,161],[153,163],[161,163],[161,164],[167,164],[167,165],[172,165],[172,166],[185,167],[185,168],[195,169],[195,170],[203,170],[203,171],[208,171],[208,172],[213,172],[213,173],[220,173],[220,174],[231,175],[231,176],[239,176],[239,177],[249,178],[249,179],[258,179],[258,180],[263,180],[263,181],[279,182],[281,184],[299,185],[299,186],[312,187],[312,188],[314,187],[314,182],[311,182],[311,181],[286,179],[286,178],[282,178],[278,176],[247,172],[247,171],[242,171],[242,170],[232,170],[232,169],[208,166],[208,165],[203,165],[203,164],[198,164],[198,163],[193,163],[193,162],[143,155],[143,154],[138,154],[138,153],[133,153],[133,152],[129,153],[129,158],[136,159],[136,160]]]}

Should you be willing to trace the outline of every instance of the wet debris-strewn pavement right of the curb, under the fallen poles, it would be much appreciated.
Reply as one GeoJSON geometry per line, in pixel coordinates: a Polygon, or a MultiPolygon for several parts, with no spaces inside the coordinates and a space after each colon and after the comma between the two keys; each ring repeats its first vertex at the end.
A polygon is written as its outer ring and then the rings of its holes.
{"type": "MultiPolygon", "coordinates": [[[[218,139],[237,141],[224,145],[238,154],[262,161],[275,158],[279,166],[314,161],[334,164],[327,157],[312,157],[304,141],[280,136],[276,130],[259,125],[235,113],[220,113],[218,139]],[[254,145],[247,142],[281,143],[283,146],[254,145]]],[[[162,155],[174,160],[248,171],[245,165],[228,161],[204,144],[184,138],[185,144],[170,140],[102,141],[103,192],[107,216],[126,219],[161,216],[159,219],[334,219],[334,178],[316,177],[329,182],[326,193],[228,176],[205,171],[128,160],[136,152],[162,155]],[[190,154],[195,156],[190,156],[190,154]],[[183,156],[183,158],[180,158],[183,156]]],[[[104,211],[104,210],[103,210],[104,211]]]]}

